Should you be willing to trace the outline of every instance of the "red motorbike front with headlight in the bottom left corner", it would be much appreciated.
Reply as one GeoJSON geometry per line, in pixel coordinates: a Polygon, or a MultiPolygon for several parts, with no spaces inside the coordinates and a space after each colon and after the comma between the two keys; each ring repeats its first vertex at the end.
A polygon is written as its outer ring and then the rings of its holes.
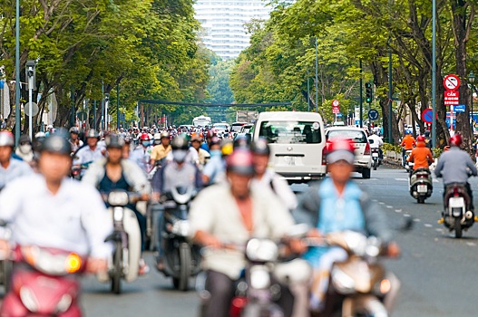
{"type": "Polygon", "coordinates": [[[72,252],[17,245],[15,271],[4,298],[2,316],[81,316],[79,275],[85,259],[72,252]]]}

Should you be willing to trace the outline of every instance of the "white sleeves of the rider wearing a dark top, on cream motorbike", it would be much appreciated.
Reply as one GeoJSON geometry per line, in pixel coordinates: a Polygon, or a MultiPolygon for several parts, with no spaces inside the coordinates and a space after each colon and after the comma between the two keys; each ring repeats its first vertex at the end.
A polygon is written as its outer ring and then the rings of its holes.
{"type": "MultiPolygon", "coordinates": [[[[86,170],[86,173],[84,173],[82,182],[98,187],[102,178],[104,178],[106,162],[106,158],[94,161],[86,170]]],[[[129,159],[122,159],[121,165],[122,174],[134,192],[139,194],[151,193],[151,185],[148,178],[146,178],[144,171],[135,162],[129,159]]]]}

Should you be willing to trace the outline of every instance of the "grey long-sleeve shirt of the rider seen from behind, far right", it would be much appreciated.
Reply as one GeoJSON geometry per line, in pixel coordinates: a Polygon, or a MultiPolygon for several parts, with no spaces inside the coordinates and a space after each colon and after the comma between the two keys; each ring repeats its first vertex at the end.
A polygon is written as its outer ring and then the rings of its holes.
{"type": "Polygon", "coordinates": [[[442,153],[438,159],[438,164],[434,168],[434,175],[437,178],[444,178],[444,185],[446,186],[452,183],[463,184],[468,182],[469,171],[473,176],[478,175],[478,170],[468,153],[458,147],[451,147],[450,150],[442,153]]]}

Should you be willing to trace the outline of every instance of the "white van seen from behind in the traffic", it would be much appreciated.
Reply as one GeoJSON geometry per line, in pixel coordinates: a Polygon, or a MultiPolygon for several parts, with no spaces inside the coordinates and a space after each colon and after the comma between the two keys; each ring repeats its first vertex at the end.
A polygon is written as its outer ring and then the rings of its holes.
{"type": "Polygon", "coordinates": [[[318,113],[298,111],[260,112],[252,139],[268,140],[269,167],[301,182],[326,175],[326,137],[318,113]]]}

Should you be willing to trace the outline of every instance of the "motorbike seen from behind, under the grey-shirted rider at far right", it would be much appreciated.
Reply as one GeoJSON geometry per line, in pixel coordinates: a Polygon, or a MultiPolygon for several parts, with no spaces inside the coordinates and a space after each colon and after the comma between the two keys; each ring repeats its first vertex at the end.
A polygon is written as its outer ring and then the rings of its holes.
{"type": "Polygon", "coordinates": [[[454,231],[456,238],[461,238],[463,230],[473,226],[475,217],[471,203],[465,184],[453,183],[445,188],[444,218],[441,222],[450,231],[454,231]]]}

